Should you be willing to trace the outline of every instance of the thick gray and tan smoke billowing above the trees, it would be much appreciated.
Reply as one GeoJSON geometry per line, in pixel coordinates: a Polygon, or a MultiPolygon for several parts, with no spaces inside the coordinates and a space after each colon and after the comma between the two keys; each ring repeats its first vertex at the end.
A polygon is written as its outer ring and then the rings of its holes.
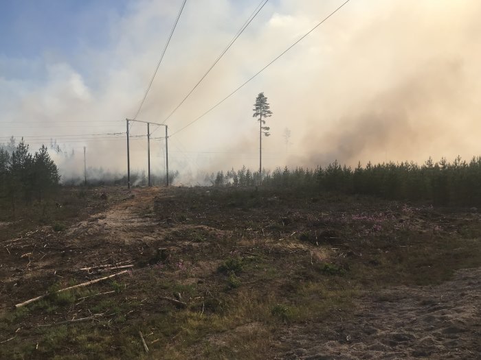
{"type": "MultiPolygon", "coordinates": [[[[269,2],[168,120],[170,132],[216,104],[340,3],[269,2]]],[[[257,4],[188,3],[139,119],[163,121],[257,4]]],[[[136,1],[115,18],[111,42],[102,51],[83,49],[75,62],[82,66],[46,56],[41,65],[31,65],[43,67],[41,84],[1,80],[11,98],[4,101],[2,119],[16,123],[11,130],[17,136],[41,132],[65,139],[67,134],[124,132],[124,119],[137,110],[177,5],[136,1]],[[22,125],[25,119],[41,123],[41,131],[22,125]],[[92,122],[83,128],[69,122],[85,119],[92,122]]],[[[219,169],[256,169],[258,127],[251,110],[261,91],[273,111],[267,124],[272,136],[263,143],[263,164],[271,169],[315,167],[335,159],[356,165],[359,160],[480,154],[480,18],[476,0],[353,0],[236,95],[172,136],[170,166],[184,184],[219,169]],[[288,143],[286,128],[291,130],[288,143]]],[[[132,133],[146,129],[137,124],[132,133]]],[[[160,128],[154,136],[163,134],[160,128]]],[[[123,136],[70,142],[67,147],[76,147],[78,156],[61,160],[61,171],[82,173],[83,145],[89,166],[125,171],[123,136]]],[[[153,141],[155,171],[164,169],[162,146],[161,139],[153,141]]],[[[131,150],[133,167],[146,169],[146,140],[133,140],[131,150]]]]}

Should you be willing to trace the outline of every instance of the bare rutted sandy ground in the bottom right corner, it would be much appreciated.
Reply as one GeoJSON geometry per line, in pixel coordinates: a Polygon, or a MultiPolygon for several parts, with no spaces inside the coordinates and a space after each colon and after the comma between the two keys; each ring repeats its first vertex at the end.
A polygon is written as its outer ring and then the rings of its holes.
{"type": "Polygon", "coordinates": [[[353,320],[289,329],[284,359],[481,359],[481,269],[363,296],[353,320]],[[303,333],[299,336],[299,332],[303,333]]]}

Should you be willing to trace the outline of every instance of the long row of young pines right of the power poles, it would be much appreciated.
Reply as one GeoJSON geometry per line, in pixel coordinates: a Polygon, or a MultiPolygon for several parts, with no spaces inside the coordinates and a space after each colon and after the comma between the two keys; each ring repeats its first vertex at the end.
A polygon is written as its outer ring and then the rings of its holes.
{"type": "MultiPolygon", "coordinates": [[[[249,187],[259,184],[258,171],[246,167],[206,178],[214,186],[249,187]]],[[[326,167],[262,170],[262,185],[274,188],[334,191],[348,195],[373,195],[386,200],[429,201],[437,205],[481,205],[481,156],[469,162],[459,156],[423,165],[414,162],[359,163],[354,169],[337,161],[326,167]]]]}

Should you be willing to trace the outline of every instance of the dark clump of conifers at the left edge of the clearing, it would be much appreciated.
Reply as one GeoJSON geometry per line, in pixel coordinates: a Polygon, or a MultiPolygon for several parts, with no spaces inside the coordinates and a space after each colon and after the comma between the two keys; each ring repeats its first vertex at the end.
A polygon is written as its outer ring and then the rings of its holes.
{"type": "Polygon", "coordinates": [[[23,139],[17,145],[14,139],[0,146],[0,198],[3,204],[11,201],[15,209],[17,202],[30,204],[58,187],[60,176],[48,149],[42,145],[35,154],[30,154],[29,145],[23,139]]]}

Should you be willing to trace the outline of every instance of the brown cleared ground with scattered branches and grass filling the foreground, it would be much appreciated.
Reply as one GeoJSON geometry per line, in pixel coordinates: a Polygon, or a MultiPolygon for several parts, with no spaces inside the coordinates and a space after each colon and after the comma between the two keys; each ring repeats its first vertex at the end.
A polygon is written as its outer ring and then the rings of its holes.
{"type": "Polygon", "coordinates": [[[78,207],[62,224],[0,223],[1,358],[480,357],[475,208],[256,189],[83,197],[59,200],[58,214],[78,207]]]}

